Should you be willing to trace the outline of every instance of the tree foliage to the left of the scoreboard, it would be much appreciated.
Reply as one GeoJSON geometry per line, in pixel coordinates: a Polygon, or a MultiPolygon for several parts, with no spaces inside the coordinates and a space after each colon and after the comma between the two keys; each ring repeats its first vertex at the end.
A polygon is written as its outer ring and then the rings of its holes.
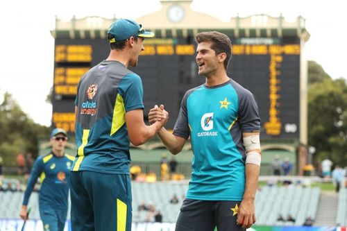
{"type": "Polygon", "coordinates": [[[18,153],[38,153],[38,140],[49,135],[49,128],[40,126],[26,115],[6,92],[0,104],[0,155],[3,165],[15,166],[18,153]]]}

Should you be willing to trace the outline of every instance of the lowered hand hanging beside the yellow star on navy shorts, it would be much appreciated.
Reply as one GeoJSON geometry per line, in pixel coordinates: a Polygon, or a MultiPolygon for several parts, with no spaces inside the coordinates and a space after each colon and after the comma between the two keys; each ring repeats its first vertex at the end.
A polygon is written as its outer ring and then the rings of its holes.
{"type": "Polygon", "coordinates": [[[255,223],[255,209],[253,199],[244,199],[239,205],[237,214],[237,225],[242,225],[242,228],[248,229],[255,223]]]}

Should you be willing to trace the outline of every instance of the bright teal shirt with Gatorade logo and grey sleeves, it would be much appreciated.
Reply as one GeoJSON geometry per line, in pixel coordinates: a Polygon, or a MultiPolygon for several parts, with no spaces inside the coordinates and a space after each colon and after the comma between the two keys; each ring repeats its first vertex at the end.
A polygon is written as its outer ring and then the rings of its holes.
{"type": "Polygon", "coordinates": [[[245,159],[242,132],[259,132],[255,97],[230,79],[222,85],[201,85],[186,92],[174,135],[190,135],[192,178],[186,198],[242,200],[245,159]]]}

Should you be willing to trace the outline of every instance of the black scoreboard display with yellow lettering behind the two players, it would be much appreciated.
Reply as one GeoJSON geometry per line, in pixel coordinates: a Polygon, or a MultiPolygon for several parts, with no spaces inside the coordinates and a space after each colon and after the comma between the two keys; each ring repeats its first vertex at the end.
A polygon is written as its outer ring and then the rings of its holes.
{"type": "MultiPolygon", "coordinates": [[[[233,38],[228,76],[251,90],[262,120],[262,139],[298,139],[300,40],[282,38],[233,38]]],[[[133,68],[142,77],[144,116],[155,104],[170,114],[167,128],[174,128],[183,95],[201,85],[197,75],[196,44],[188,38],[153,38],[133,68]]],[[[53,118],[54,126],[74,132],[74,100],[81,76],[107,58],[107,40],[56,38],[53,118]]],[[[203,102],[201,102],[203,103],[203,102]]]]}

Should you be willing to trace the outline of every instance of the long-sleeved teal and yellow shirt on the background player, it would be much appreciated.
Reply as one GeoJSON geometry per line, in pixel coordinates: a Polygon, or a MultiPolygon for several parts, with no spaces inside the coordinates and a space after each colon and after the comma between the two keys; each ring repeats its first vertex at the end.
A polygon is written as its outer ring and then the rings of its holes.
{"type": "Polygon", "coordinates": [[[28,205],[37,178],[41,180],[39,205],[66,210],[69,195],[70,169],[75,157],[53,153],[37,157],[24,193],[23,205],[28,205]]]}

